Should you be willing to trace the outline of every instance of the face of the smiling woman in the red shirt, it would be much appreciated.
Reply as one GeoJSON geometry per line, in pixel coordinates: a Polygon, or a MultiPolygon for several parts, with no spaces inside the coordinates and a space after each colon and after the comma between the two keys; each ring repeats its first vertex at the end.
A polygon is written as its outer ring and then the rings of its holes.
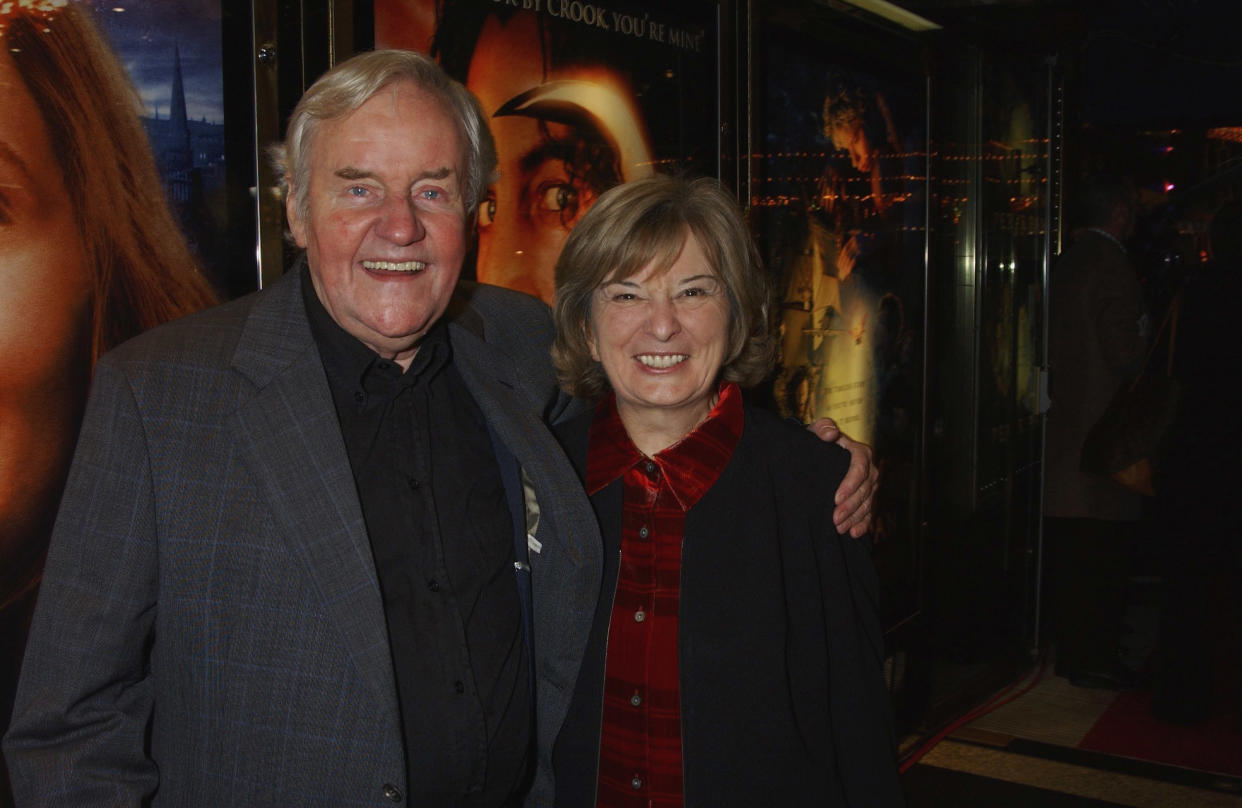
{"type": "Polygon", "coordinates": [[[712,411],[728,351],[729,303],[693,236],[667,271],[648,264],[600,287],[591,325],[591,357],[604,366],[626,427],[657,420],[684,436],[712,411]]]}

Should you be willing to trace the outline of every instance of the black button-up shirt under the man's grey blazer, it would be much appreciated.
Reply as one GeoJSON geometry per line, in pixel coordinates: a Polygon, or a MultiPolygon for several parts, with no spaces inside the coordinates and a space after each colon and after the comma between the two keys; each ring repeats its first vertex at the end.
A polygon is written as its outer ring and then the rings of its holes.
{"type": "Polygon", "coordinates": [[[448,329],[401,372],[332,319],[309,278],[302,289],[384,596],[407,804],[515,802],[533,707],[513,520],[448,329]]]}

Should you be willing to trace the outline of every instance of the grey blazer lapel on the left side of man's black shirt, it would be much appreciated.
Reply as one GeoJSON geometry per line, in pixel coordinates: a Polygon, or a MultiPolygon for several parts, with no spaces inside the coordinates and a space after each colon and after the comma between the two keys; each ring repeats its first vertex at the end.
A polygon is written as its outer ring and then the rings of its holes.
{"type": "Polygon", "coordinates": [[[256,303],[233,367],[253,382],[238,446],[359,673],[380,699],[396,685],[384,606],[332,393],[293,269],[256,303]]]}

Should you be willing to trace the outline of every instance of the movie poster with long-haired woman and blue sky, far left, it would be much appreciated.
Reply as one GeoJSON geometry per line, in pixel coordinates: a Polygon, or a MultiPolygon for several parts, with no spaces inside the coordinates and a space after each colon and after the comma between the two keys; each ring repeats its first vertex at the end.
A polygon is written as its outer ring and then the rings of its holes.
{"type": "Polygon", "coordinates": [[[0,2],[0,732],[94,360],[225,285],[219,22],[0,2]]]}

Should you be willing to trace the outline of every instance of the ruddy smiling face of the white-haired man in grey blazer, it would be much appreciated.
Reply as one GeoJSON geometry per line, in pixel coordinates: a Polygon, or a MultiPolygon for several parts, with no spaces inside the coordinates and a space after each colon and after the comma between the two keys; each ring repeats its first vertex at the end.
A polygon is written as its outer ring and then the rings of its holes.
{"type": "Polygon", "coordinates": [[[443,314],[466,254],[462,140],[409,81],[320,122],[309,144],[309,213],[289,228],[319,300],[349,334],[404,366],[443,314]]]}

